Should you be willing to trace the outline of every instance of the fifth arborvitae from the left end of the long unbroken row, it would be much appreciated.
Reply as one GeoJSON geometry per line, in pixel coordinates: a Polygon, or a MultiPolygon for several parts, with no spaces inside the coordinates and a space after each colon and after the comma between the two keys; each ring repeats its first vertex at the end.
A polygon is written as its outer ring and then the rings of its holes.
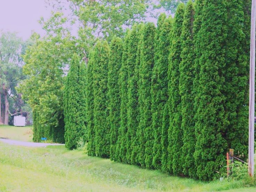
{"type": "MultiPolygon", "coordinates": [[[[126,134],[126,159],[131,163],[131,154],[133,153],[133,142],[136,138],[136,131],[139,122],[138,111],[138,63],[136,62],[137,48],[139,43],[139,27],[134,25],[128,43],[128,57],[127,57],[127,73],[128,73],[128,103],[127,103],[127,134],[126,134]]],[[[134,151],[135,152],[135,151],[134,151]]],[[[135,157],[136,155],[134,155],[135,157]]],[[[133,159],[133,162],[135,159],[133,159]]]]}

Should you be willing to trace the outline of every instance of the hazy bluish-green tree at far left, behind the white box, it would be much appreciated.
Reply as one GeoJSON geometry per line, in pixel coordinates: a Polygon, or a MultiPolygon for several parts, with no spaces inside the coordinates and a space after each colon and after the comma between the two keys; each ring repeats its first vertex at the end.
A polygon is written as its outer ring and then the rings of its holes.
{"type": "Polygon", "coordinates": [[[20,112],[24,105],[15,87],[25,78],[21,69],[24,64],[21,54],[29,43],[23,42],[15,33],[0,34],[0,124],[8,125],[8,111],[20,112]]]}

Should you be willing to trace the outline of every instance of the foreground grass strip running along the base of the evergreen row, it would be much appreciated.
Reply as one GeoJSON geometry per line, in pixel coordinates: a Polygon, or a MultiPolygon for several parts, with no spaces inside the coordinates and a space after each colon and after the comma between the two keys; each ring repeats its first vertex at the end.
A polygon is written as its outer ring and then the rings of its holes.
{"type": "MultiPolygon", "coordinates": [[[[238,181],[199,182],[97,157],[64,146],[0,143],[0,191],[222,191],[238,181]]],[[[237,191],[233,190],[233,191],[237,191]]],[[[239,191],[256,191],[244,188],[239,191]]],[[[233,192],[232,191],[232,192],[233,192]]]]}

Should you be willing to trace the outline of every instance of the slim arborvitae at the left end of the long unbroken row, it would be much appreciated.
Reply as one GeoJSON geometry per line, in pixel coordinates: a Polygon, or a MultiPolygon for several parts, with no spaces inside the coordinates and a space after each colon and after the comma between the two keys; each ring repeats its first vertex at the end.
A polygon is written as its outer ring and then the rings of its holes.
{"type": "Polygon", "coordinates": [[[86,73],[86,119],[87,119],[87,129],[88,129],[88,155],[95,156],[95,130],[94,130],[94,93],[93,93],[93,66],[94,66],[94,52],[89,55],[89,62],[87,65],[86,73]]]}

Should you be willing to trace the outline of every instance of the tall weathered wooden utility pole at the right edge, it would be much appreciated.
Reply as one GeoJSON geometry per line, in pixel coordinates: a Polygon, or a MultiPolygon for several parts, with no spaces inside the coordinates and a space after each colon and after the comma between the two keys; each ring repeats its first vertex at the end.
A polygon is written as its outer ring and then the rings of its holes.
{"type": "Polygon", "coordinates": [[[254,102],[255,102],[255,30],[256,0],[251,1],[251,50],[250,50],[250,96],[249,96],[249,155],[248,173],[254,176],[254,102]]]}

